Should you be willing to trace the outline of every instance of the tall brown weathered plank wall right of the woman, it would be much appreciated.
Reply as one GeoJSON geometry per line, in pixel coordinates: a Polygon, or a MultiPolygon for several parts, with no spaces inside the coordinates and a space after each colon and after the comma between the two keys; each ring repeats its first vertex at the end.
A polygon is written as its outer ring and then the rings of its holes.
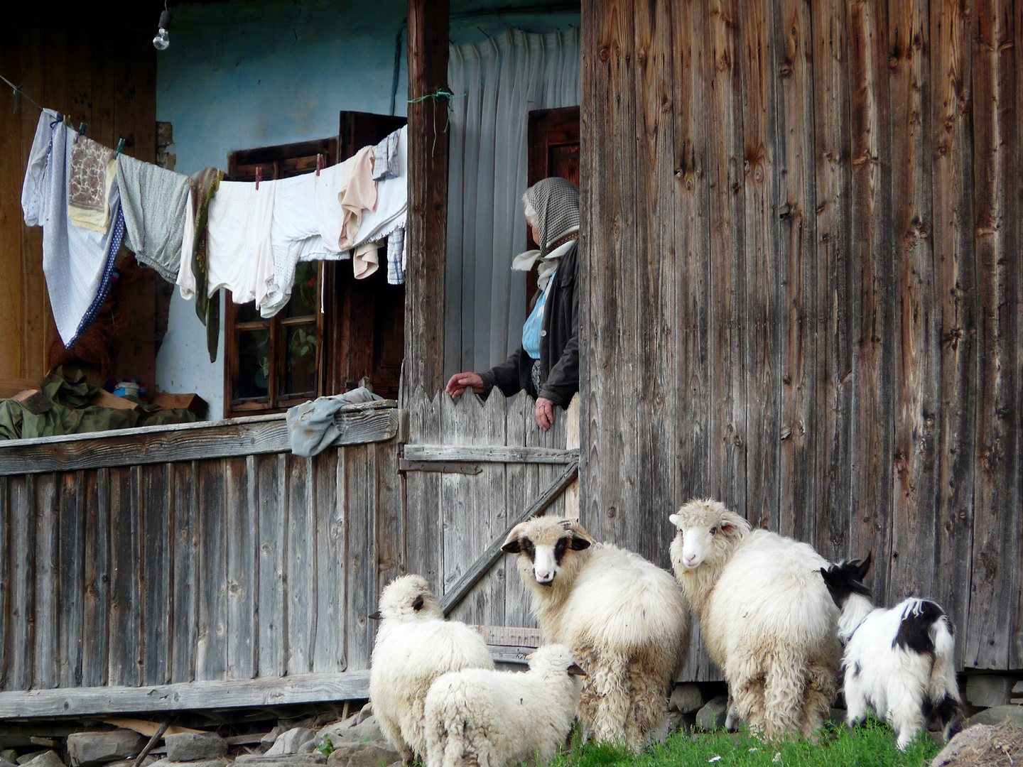
{"type": "Polygon", "coordinates": [[[716,496],[1023,668],[1023,4],[582,7],[583,524],[716,496]]]}

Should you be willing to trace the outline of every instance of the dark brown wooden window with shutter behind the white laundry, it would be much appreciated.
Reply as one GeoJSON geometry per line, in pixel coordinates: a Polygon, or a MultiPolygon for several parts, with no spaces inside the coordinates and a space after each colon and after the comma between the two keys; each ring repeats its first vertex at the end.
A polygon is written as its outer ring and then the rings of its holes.
{"type": "MultiPolygon", "coordinates": [[[[288,178],[351,156],[404,125],[404,118],[341,112],[338,138],[228,154],[227,178],[288,178]]],[[[292,298],[269,319],[255,305],[227,300],[224,415],[281,412],[366,381],[396,398],[404,353],[405,288],[389,285],[387,266],[356,280],[350,261],[298,265],[292,298]]]]}

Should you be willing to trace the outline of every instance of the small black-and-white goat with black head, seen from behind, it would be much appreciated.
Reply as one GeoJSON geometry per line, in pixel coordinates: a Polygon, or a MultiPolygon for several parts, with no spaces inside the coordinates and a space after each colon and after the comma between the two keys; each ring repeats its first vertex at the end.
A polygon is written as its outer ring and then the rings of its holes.
{"type": "Polygon", "coordinates": [[[863,561],[820,571],[842,611],[838,636],[845,642],[846,722],[851,727],[873,709],[895,729],[901,750],[925,722],[940,726],[947,740],[961,705],[952,663],[954,629],[929,599],[875,607],[862,583],[870,567],[868,554],[863,561]]]}

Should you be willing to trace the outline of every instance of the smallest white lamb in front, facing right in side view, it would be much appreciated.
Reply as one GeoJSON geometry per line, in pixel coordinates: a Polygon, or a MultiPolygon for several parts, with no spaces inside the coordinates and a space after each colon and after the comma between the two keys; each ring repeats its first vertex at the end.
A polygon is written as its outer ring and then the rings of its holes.
{"type": "Polygon", "coordinates": [[[585,672],[564,644],[529,657],[523,673],[465,669],[427,693],[427,767],[545,764],[565,742],[585,672]]]}

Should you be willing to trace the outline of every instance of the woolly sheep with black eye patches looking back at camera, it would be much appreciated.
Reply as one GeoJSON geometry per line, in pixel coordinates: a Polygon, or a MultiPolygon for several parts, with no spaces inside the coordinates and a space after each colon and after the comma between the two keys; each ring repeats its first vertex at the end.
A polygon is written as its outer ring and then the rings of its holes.
{"type": "Polygon", "coordinates": [[[502,548],[519,554],[544,640],[568,645],[586,669],[584,737],[641,749],[667,712],[688,648],[678,586],[638,554],[594,543],[574,522],[534,517],[516,526],[502,548]]]}

